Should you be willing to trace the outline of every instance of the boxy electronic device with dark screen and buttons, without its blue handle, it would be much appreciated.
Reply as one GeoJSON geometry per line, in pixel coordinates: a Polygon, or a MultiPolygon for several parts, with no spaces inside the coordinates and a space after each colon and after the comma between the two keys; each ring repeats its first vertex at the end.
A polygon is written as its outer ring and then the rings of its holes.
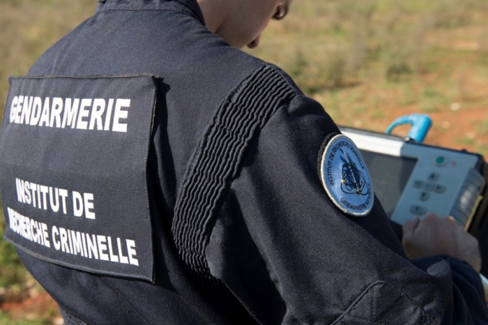
{"type": "Polygon", "coordinates": [[[391,220],[403,224],[427,213],[471,225],[486,180],[482,156],[427,146],[402,137],[340,128],[356,143],[373,189],[391,220]]]}

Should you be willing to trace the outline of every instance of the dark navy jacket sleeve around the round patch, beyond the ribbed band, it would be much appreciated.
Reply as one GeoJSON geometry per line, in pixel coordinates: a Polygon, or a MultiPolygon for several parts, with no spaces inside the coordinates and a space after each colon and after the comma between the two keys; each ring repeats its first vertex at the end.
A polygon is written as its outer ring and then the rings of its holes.
{"type": "Polygon", "coordinates": [[[263,324],[482,324],[477,273],[464,262],[410,262],[378,200],[365,217],[330,201],[317,173],[338,132],[294,96],[254,138],[218,210],[206,259],[263,324]]]}

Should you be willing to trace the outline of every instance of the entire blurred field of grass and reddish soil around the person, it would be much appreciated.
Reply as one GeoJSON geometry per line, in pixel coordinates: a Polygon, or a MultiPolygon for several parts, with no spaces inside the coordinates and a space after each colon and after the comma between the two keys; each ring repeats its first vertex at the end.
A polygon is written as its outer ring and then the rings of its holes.
{"type": "MultiPolygon", "coordinates": [[[[0,1],[0,103],[8,76],[24,75],[96,4],[0,1]]],[[[339,124],[383,132],[397,116],[425,113],[434,119],[427,143],[488,157],[486,0],[294,0],[246,51],[283,68],[339,124]]],[[[0,324],[59,322],[46,296],[0,240],[0,324]]]]}

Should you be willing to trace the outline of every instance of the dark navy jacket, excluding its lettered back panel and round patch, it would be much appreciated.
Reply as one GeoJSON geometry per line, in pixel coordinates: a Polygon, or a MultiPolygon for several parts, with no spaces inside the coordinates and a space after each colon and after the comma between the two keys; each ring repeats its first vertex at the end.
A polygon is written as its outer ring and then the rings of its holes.
{"type": "Polygon", "coordinates": [[[330,202],[317,159],[337,126],[282,70],[209,32],[196,1],[100,1],[29,71],[141,73],[158,77],[155,282],[18,250],[68,324],[488,322],[470,266],[409,262],[377,200],[365,218],[330,202]]]}

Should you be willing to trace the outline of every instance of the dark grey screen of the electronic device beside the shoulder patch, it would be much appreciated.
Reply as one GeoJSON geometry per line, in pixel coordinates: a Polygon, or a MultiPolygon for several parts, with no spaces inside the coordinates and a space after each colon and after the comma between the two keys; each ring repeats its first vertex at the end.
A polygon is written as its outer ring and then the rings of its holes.
{"type": "Polygon", "coordinates": [[[373,190],[391,218],[417,163],[415,158],[395,157],[361,150],[371,176],[373,190]]]}

